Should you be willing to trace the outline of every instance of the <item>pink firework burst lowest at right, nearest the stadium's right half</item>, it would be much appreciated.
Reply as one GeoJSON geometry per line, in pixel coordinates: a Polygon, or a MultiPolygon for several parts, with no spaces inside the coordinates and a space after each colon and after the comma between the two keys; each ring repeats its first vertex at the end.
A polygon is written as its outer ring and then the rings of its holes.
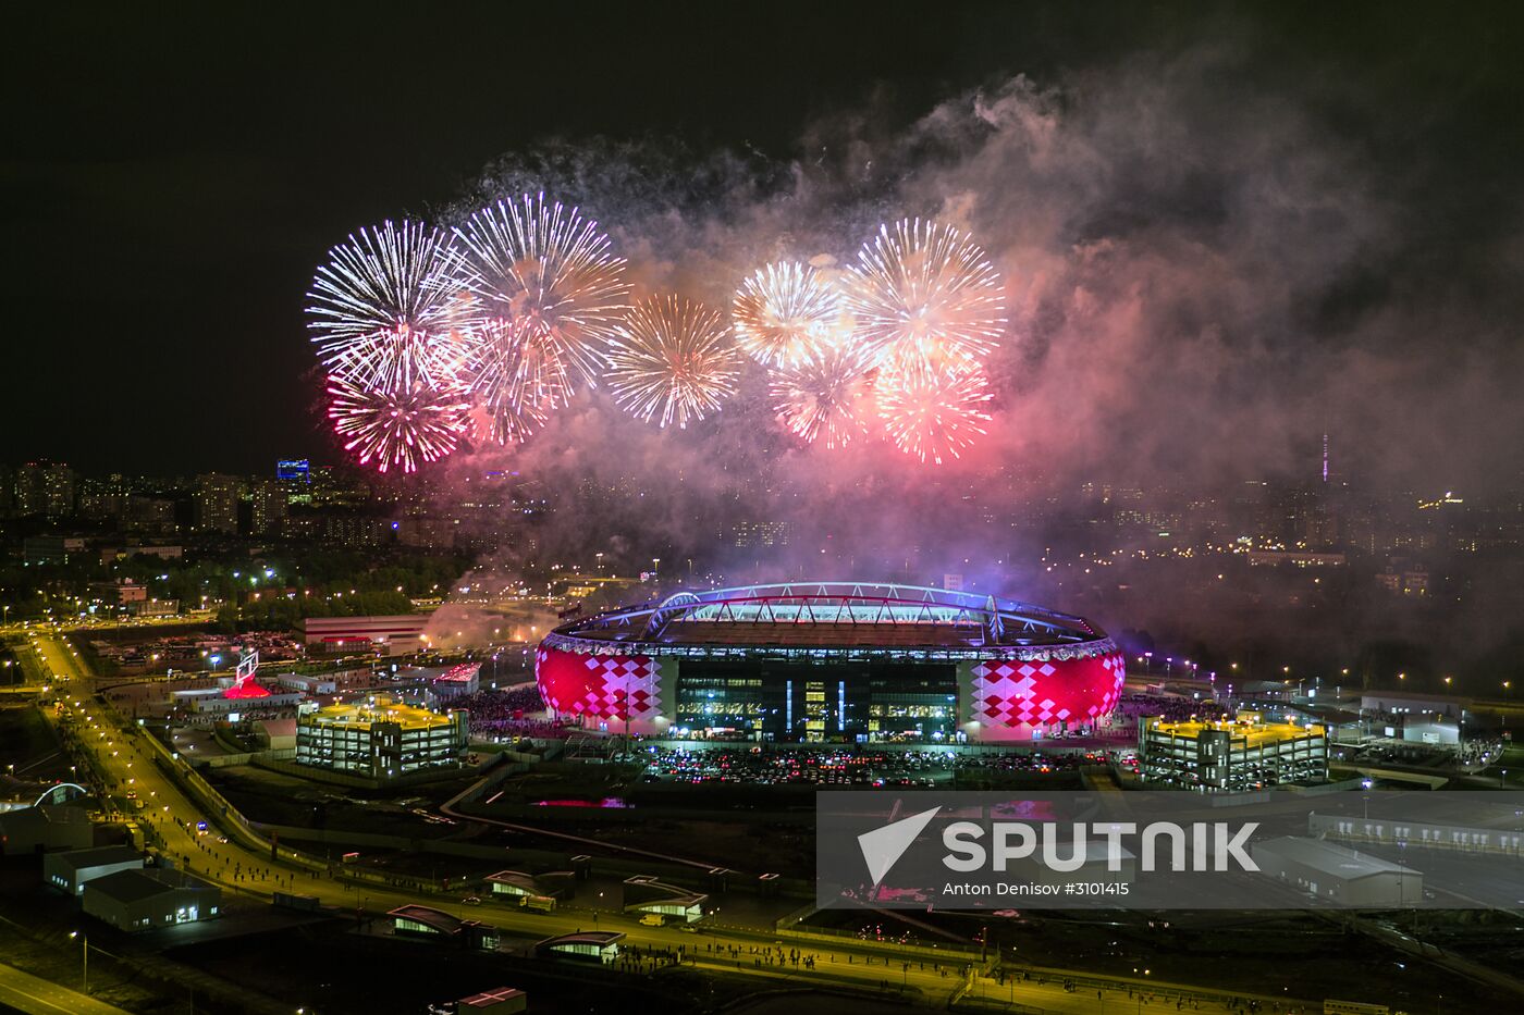
{"type": "Polygon", "coordinates": [[[942,465],[957,459],[986,433],[989,379],[971,363],[901,364],[879,370],[875,389],[888,439],[922,462],[942,465]]]}

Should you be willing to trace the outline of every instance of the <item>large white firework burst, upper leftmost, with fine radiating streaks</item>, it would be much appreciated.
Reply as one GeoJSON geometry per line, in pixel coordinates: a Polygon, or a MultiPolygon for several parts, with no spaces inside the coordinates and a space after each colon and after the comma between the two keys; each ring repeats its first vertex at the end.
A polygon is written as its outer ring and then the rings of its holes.
{"type": "Polygon", "coordinates": [[[419,223],[351,233],[317,270],[308,328],[328,372],[358,387],[447,387],[466,355],[460,248],[419,223]]]}

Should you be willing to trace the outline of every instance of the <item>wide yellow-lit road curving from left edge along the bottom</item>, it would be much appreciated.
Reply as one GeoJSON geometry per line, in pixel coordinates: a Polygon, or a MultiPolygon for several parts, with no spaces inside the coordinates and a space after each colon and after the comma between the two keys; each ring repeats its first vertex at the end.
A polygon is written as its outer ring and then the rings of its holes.
{"type": "MultiPolygon", "coordinates": [[[[299,895],[317,896],[325,905],[340,907],[354,911],[357,919],[376,919],[405,904],[430,905],[463,919],[480,919],[498,927],[509,937],[524,942],[539,940],[553,934],[564,934],[578,930],[617,930],[625,934],[622,948],[626,962],[649,968],[652,954],[683,956],[700,968],[724,969],[764,977],[767,980],[789,980],[796,985],[837,983],[869,989],[913,989],[937,1006],[946,1001],[965,983],[975,997],[983,995],[995,1001],[1020,1003],[1055,1013],[1088,1013],[1100,1010],[1105,1004],[1126,1004],[1117,1010],[1149,1010],[1149,1004],[1138,1004],[1137,997],[1129,997],[1129,988],[1137,991],[1155,991],[1163,995],[1166,985],[1152,983],[1145,977],[1135,980],[1109,980],[1113,989],[1103,991],[1097,997],[1097,986],[1088,989],[1065,991],[1062,986],[1064,971],[1047,974],[1052,981],[1007,980],[1004,986],[989,977],[974,977],[965,980],[966,957],[949,954],[942,959],[936,954],[911,954],[908,949],[893,943],[849,940],[802,940],[789,936],[779,936],[767,930],[748,930],[742,927],[727,927],[706,922],[700,933],[684,933],[671,927],[645,927],[622,913],[593,911],[584,908],[561,908],[553,913],[526,913],[517,907],[498,905],[486,896],[483,905],[468,905],[459,898],[395,890],[384,885],[357,882],[351,884],[341,878],[343,869],[331,872],[322,861],[311,861],[308,866],[297,866],[285,858],[273,861],[268,844],[262,844],[247,835],[235,823],[218,826],[213,815],[203,809],[181,791],[178,782],[166,771],[168,762],[162,760],[160,748],[148,742],[146,735],[137,733],[134,727],[119,725],[114,715],[105,715],[102,706],[93,700],[84,664],[75,651],[52,636],[38,637],[38,652],[53,674],[64,677],[61,689],[69,693],[61,695],[64,709],[78,722],[78,732],[90,745],[101,762],[108,779],[117,783],[119,792],[136,792],[143,811],[140,820],[148,821],[163,838],[163,852],[181,863],[192,873],[216,881],[224,892],[241,893],[256,898],[268,898],[273,892],[293,892],[299,895]],[[79,703],[78,706],[73,703],[79,703]],[[198,834],[197,823],[207,821],[209,832],[198,834]],[[229,841],[219,841],[223,837],[229,841]],[[338,875],[338,876],[335,876],[338,875]],[[799,954],[794,963],[792,953],[799,954]],[[809,957],[814,966],[805,962],[809,957]]],[[[174,762],[183,765],[184,762],[174,762]]],[[[713,919],[713,917],[712,917],[713,919]]],[[[657,960],[660,962],[660,960],[657,960]]],[[[1070,972],[1074,977],[1088,977],[1081,971],[1070,972]]],[[[1192,988],[1175,988],[1192,989],[1192,988]]],[[[1205,992],[1205,991],[1199,991],[1205,992]]],[[[1274,1004],[1279,998],[1266,995],[1257,997],[1274,1004]]],[[[1170,997],[1170,1004],[1173,997],[1170,997]]],[[[1164,1010],[1163,1001],[1155,1003],[1155,1010],[1164,1010]]],[[[1279,1010],[1266,1006],[1265,1012],[1279,1010]]]]}

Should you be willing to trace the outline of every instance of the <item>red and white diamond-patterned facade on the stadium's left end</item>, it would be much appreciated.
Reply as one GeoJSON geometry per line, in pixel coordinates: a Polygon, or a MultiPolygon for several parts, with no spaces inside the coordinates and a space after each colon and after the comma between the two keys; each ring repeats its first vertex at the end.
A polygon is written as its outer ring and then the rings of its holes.
{"type": "Polygon", "coordinates": [[[642,722],[661,713],[661,663],[649,655],[565,652],[539,646],[535,683],[561,716],[642,722]]]}

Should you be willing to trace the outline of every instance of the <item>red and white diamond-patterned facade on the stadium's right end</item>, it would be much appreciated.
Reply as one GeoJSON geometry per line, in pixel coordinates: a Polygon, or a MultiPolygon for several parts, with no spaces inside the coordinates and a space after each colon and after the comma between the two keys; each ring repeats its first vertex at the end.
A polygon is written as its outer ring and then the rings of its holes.
{"type": "Polygon", "coordinates": [[[971,721],[1009,730],[1082,725],[1109,713],[1122,695],[1120,652],[1082,658],[988,660],[972,668],[971,721]]]}

